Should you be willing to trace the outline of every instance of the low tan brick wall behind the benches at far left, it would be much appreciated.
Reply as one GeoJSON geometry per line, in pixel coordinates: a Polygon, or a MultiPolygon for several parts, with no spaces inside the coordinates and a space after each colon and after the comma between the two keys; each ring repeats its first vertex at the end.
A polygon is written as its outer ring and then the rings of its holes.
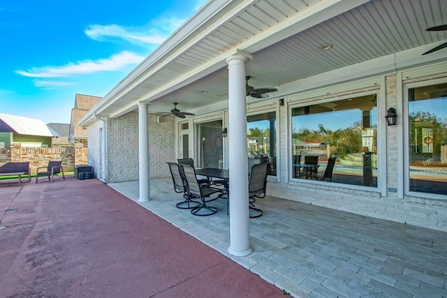
{"type": "Polygon", "coordinates": [[[33,173],[36,172],[37,167],[46,167],[48,161],[62,161],[64,171],[72,171],[74,165],[87,164],[88,158],[87,148],[82,147],[82,144],[76,144],[75,147],[50,148],[22,147],[21,144],[11,144],[9,153],[6,151],[1,154],[2,156],[9,155],[8,160],[3,163],[29,161],[33,173]]]}

